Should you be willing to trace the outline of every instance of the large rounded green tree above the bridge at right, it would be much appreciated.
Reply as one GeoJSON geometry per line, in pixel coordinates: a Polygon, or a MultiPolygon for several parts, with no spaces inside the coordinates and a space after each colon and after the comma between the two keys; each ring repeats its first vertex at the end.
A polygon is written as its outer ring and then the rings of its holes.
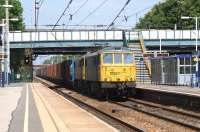
{"type": "Polygon", "coordinates": [[[139,29],[194,29],[195,20],[181,16],[200,17],[200,0],[165,0],[155,5],[136,25],[139,29]]]}

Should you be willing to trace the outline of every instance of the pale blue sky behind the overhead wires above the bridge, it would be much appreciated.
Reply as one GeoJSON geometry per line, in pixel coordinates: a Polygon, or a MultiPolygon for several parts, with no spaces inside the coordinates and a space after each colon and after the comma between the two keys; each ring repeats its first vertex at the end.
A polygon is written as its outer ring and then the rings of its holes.
{"type": "MultiPolygon", "coordinates": [[[[34,0],[20,0],[24,9],[23,17],[26,25],[34,25],[34,0]]],[[[43,0],[37,0],[43,1],[43,0]]],[[[70,0],[44,0],[39,11],[39,25],[54,25],[70,0]]],[[[127,0],[73,0],[60,25],[68,25],[69,14],[73,14],[85,1],[87,3],[72,17],[71,25],[108,25],[117,16],[127,0]],[[95,13],[81,22],[89,13],[106,1],[95,13]]],[[[153,5],[161,0],[131,0],[115,25],[134,27],[138,19],[144,16],[153,5]],[[138,13],[137,13],[138,12],[138,13]],[[136,13],[138,15],[136,15],[136,13]],[[130,16],[124,21],[124,16],[130,16]]]]}

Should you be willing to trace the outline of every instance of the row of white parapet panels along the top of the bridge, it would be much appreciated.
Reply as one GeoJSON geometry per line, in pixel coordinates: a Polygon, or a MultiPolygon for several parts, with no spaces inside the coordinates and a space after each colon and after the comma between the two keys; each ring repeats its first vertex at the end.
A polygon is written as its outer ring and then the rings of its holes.
{"type": "MultiPolygon", "coordinates": [[[[196,38],[195,30],[134,30],[125,31],[127,40],[140,40],[139,33],[144,40],[192,40],[196,38]]],[[[200,39],[200,31],[198,31],[200,39]]],[[[65,41],[65,40],[123,40],[123,30],[44,30],[39,32],[11,32],[9,34],[11,42],[23,41],[65,41]]]]}

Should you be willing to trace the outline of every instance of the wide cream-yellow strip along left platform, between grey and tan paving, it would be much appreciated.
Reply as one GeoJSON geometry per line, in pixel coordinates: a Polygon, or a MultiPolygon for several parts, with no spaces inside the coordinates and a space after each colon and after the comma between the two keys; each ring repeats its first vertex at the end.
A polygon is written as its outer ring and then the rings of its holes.
{"type": "Polygon", "coordinates": [[[46,99],[31,84],[33,95],[38,109],[38,113],[45,132],[69,132],[66,124],[58,117],[46,99]]]}

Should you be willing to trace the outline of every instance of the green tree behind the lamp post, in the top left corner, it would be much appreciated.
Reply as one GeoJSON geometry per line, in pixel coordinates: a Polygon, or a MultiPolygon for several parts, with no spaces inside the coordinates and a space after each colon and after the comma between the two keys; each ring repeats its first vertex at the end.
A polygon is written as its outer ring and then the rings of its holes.
{"type": "MultiPolygon", "coordinates": [[[[4,5],[5,0],[0,0],[0,5],[4,5]]],[[[18,18],[19,21],[10,21],[10,30],[23,30],[23,8],[19,0],[9,0],[9,4],[13,5],[13,8],[10,9],[10,18],[18,18]]],[[[0,7],[0,19],[5,18],[5,9],[0,7]]]]}

